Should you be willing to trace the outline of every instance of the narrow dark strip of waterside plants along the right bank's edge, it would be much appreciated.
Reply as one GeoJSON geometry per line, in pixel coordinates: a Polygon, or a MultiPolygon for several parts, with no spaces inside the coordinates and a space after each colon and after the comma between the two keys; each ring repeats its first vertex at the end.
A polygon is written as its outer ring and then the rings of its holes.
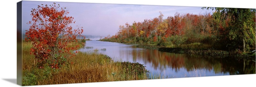
{"type": "MultiPolygon", "coordinates": [[[[98,40],[98,41],[105,41],[105,42],[115,42],[115,41],[106,41],[106,40],[98,40]]],[[[115,42],[115,43],[122,43],[122,42],[115,42]]],[[[139,43],[124,43],[128,45],[133,45],[135,47],[145,48],[145,49],[156,49],[158,51],[164,52],[172,52],[172,53],[185,53],[190,55],[200,55],[204,57],[215,57],[215,58],[235,58],[235,59],[255,59],[255,53],[241,53],[240,51],[224,51],[224,50],[213,50],[213,49],[204,49],[204,50],[193,50],[193,49],[183,49],[180,47],[165,47],[165,46],[158,46],[158,45],[144,45],[139,43]]]]}

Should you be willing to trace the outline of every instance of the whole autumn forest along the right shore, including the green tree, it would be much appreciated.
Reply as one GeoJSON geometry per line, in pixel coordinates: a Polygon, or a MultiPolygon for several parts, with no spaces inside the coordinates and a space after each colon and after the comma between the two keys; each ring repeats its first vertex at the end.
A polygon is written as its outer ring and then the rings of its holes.
{"type": "Polygon", "coordinates": [[[120,25],[115,35],[100,41],[133,44],[159,51],[212,58],[255,61],[255,9],[203,7],[215,12],[164,14],[120,25]]]}

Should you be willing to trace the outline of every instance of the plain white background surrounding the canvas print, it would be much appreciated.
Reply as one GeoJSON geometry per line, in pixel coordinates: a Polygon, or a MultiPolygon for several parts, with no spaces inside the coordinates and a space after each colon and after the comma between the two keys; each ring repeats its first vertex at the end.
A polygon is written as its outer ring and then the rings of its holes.
{"type": "MultiPolygon", "coordinates": [[[[16,17],[17,2],[20,0],[4,0],[0,4],[0,85],[1,87],[17,87],[16,84],[16,17]],[[14,82],[13,82],[14,81],[14,82]]],[[[30,1],[30,0],[29,0],[30,1]]],[[[35,0],[39,1],[39,0],[35,0]]],[[[255,1],[225,1],[225,0],[40,0],[40,1],[58,1],[58,2],[85,2],[85,3],[110,3],[110,4],[146,4],[146,5],[175,5],[175,6],[206,6],[206,7],[235,7],[235,8],[256,8],[255,1]],[[168,1],[168,2],[167,2],[168,1]]],[[[255,65],[254,65],[255,66],[255,65]]],[[[159,87],[159,86],[255,86],[256,74],[251,75],[228,75],[228,76],[208,76],[208,77],[190,77],[190,78],[172,78],[159,80],[137,80],[137,81],[119,81],[119,82],[99,82],[99,83],[76,83],[76,84],[58,84],[58,85],[39,85],[36,87],[159,87]]],[[[34,86],[29,86],[34,87],[34,86]]]]}

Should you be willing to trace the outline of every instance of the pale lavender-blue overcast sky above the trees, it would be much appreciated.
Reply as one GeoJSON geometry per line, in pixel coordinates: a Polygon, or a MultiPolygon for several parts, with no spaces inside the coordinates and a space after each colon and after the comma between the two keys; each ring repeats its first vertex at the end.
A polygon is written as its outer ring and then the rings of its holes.
{"type": "MultiPolygon", "coordinates": [[[[125,23],[132,24],[134,21],[142,22],[144,19],[153,19],[162,12],[164,19],[174,16],[176,12],[180,14],[212,13],[211,10],[202,10],[202,7],[188,6],[160,6],[160,5],[131,5],[131,4],[95,4],[95,3],[65,3],[55,2],[61,7],[66,7],[69,16],[74,17],[75,24],[84,27],[83,35],[107,36],[115,35],[119,25],[125,23]]],[[[23,1],[23,30],[27,30],[30,25],[26,24],[31,20],[30,11],[37,8],[37,5],[53,4],[53,2],[23,1]]]]}

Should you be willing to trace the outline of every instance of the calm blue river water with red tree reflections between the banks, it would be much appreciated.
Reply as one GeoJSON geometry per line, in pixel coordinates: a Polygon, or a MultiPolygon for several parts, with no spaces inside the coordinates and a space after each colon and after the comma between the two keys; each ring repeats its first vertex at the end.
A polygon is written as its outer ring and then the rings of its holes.
{"type": "Polygon", "coordinates": [[[255,62],[252,60],[235,60],[232,58],[214,59],[196,55],[162,52],[155,49],[136,48],[132,45],[86,41],[79,51],[106,54],[114,61],[139,62],[146,66],[152,75],[167,78],[255,74],[255,62]],[[87,48],[86,48],[87,47],[87,48]],[[93,48],[88,48],[93,47],[93,48]],[[106,50],[101,50],[106,49],[106,50]],[[194,69],[196,68],[196,70],[194,69]]]}

